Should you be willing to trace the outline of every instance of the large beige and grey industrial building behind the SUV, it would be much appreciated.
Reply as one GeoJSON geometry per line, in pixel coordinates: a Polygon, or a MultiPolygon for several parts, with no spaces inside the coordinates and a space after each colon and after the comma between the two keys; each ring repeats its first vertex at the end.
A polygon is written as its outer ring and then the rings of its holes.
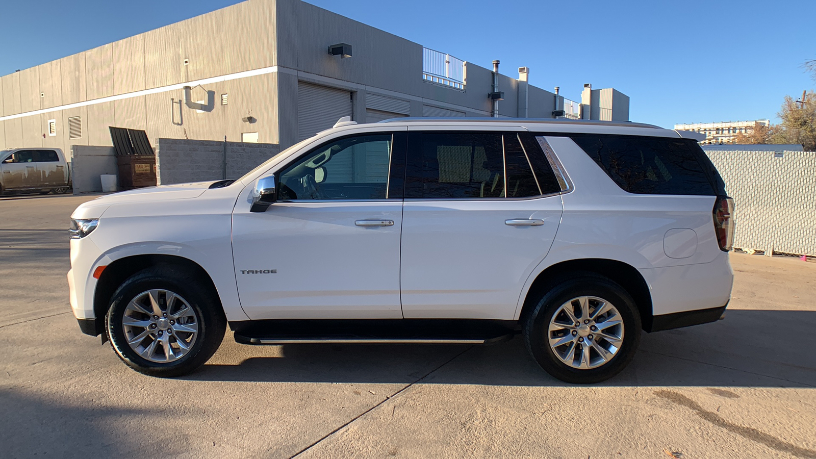
{"type": "Polygon", "coordinates": [[[247,0],[3,76],[0,149],[112,145],[111,126],[154,146],[285,148],[343,116],[628,120],[619,91],[585,85],[576,102],[529,75],[494,75],[299,0],[247,0]]]}

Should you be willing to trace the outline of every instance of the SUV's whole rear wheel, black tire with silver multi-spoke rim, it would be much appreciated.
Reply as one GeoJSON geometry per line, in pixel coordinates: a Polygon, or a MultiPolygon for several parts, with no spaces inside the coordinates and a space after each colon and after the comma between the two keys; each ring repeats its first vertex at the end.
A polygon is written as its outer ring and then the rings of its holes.
{"type": "Polygon", "coordinates": [[[590,384],[614,377],[641,341],[632,296],[611,279],[575,274],[552,283],[524,324],[527,349],[553,377],[590,384]]]}

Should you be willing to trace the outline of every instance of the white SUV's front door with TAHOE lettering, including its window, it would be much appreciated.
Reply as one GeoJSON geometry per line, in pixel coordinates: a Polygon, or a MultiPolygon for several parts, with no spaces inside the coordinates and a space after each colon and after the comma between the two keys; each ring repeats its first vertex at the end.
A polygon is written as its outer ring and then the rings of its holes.
{"type": "Polygon", "coordinates": [[[401,319],[406,132],[329,140],[276,175],[277,202],[253,213],[238,200],[233,255],[251,319],[401,319]]]}

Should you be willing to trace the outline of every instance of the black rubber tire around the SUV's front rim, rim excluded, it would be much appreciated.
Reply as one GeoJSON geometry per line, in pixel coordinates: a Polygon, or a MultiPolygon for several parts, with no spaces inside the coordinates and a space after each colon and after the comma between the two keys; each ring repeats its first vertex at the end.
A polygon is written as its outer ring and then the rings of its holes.
{"type": "Polygon", "coordinates": [[[227,320],[217,293],[197,275],[177,266],[160,265],[141,270],[128,278],[116,292],[105,315],[105,332],[119,359],[135,371],[153,377],[179,377],[202,366],[224,339],[227,320]],[[187,354],[173,362],[144,359],[127,344],[123,319],[128,303],[141,293],[162,289],[182,296],[197,315],[198,334],[187,354]]]}

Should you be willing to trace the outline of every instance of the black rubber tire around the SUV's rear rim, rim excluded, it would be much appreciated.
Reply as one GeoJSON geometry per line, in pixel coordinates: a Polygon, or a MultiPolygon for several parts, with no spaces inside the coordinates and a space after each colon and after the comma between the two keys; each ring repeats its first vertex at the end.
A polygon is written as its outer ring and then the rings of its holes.
{"type": "Polygon", "coordinates": [[[641,342],[641,315],[632,296],[618,283],[598,274],[574,273],[553,279],[538,292],[534,294],[530,314],[523,321],[524,341],[533,359],[552,377],[572,384],[592,384],[614,377],[632,361],[641,342]],[[623,319],[623,342],[619,350],[596,368],[567,365],[557,357],[548,342],[553,314],[561,305],[579,296],[597,296],[610,301],[623,319]]]}

